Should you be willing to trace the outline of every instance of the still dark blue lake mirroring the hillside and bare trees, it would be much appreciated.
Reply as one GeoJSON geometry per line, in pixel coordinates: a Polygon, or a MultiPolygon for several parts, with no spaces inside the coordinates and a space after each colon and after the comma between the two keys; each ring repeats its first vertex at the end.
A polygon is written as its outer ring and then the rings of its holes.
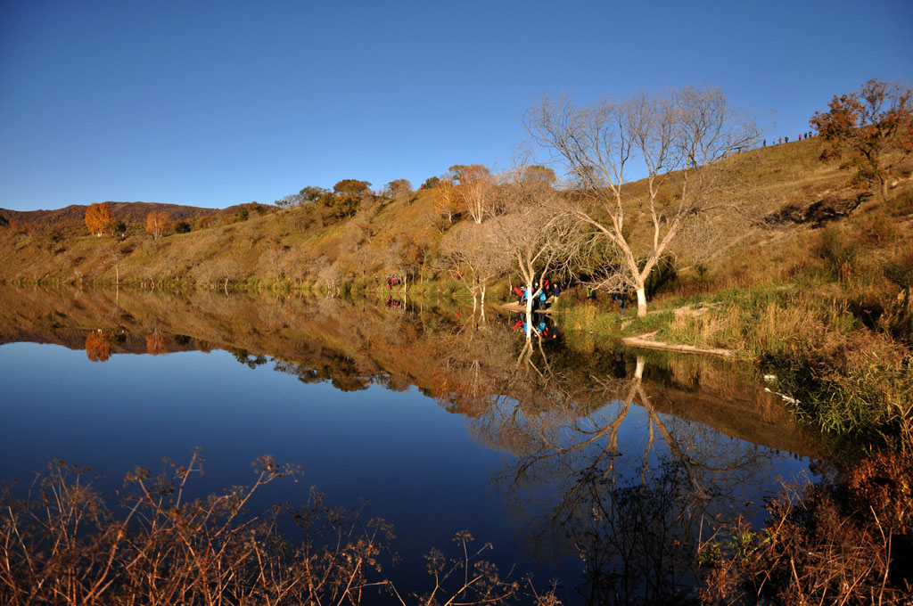
{"type": "Polygon", "coordinates": [[[63,459],[112,493],[136,465],[200,447],[205,496],[250,484],[250,463],[273,455],[303,476],[251,508],[303,503],[310,486],[334,505],[368,499],[365,515],[394,525],[389,575],[407,591],[427,585],[422,555],[466,529],[502,571],[586,603],[619,584],[687,593],[709,520],[760,523],[782,481],[813,481],[826,459],[748,369],[617,350],[560,320],[527,348],[514,320],[487,320],[383,300],[3,288],[0,477],[22,494],[63,459]]]}

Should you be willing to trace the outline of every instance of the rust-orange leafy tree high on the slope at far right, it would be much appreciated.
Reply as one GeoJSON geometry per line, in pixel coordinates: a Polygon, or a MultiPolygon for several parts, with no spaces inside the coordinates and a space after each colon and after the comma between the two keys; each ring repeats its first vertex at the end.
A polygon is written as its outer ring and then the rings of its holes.
{"type": "Polygon", "coordinates": [[[913,151],[913,90],[872,79],[816,111],[809,124],[826,143],[823,161],[843,158],[855,170],[852,184],[876,185],[887,200],[888,179],[913,151]]]}

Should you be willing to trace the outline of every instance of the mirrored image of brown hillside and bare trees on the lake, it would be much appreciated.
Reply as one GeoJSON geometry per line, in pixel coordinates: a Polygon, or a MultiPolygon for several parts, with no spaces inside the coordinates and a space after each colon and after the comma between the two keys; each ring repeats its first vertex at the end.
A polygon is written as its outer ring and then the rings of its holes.
{"type": "MultiPolygon", "coordinates": [[[[486,319],[447,301],[392,298],[2,294],[0,342],[84,349],[93,363],[226,350],[258,374],[272,369],[308,386],[418,387],[461,415],[477,444],[501,454],[484,480],[494,478],[494,507],[513,520],[519,550],[509,554],[536,554],[561,577],[569,601],[687,596],[700,539],[720,520],[758,521],[776,476],[803,467],[785,454],[823,456],[743,370],[594,347],[540,315],[486,319]]],[[[437,473],[459,475],[460,465],[467,463],[456,458],[437,473]]],[[[459,529],[441,523],[445,534],[459,529]]]]}

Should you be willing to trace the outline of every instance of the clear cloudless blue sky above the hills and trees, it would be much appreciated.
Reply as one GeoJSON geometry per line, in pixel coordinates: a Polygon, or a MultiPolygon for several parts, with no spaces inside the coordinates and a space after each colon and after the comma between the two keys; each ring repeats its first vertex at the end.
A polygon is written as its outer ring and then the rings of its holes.
{"type": "Polygon", "coordinates": [[[913,2],[0,4],[0,207],[269,203],[504,166],[535,99],[714,84],[806,131],[913,84],[913,2]]]}

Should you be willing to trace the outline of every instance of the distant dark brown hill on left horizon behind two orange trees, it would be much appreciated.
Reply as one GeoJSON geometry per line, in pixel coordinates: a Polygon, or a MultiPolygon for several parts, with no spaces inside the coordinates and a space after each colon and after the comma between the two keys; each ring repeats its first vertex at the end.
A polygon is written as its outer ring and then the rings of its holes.
{"type": "MultiPolygon", "coordinates": [[[[184,204],[154,202],[109,202],[114,218],[124,223],[142,223],[152,211],[164,211],[175,221],[186,221],[207,214],[232,214],[232,209],[203,208],[184,204]]],[[[0,208],[0,225],[45,225],[65,231],[85,230],[86,204],[70,204],[65,208],[40,211],[12,211],[0,208]]]]}

